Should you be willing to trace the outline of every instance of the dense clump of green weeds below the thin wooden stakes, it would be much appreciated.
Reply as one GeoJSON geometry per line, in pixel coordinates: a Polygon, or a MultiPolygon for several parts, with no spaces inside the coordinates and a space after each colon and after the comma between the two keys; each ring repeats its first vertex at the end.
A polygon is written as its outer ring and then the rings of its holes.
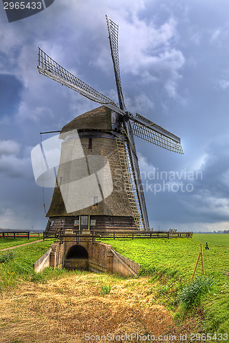
{"type": "Polygon", "coordinates": [[[210,292],[210,287],[214,283],[213,276],[197,276],[180,292],[180,303],[186,308],[200,304],[201,297],[210,292]]]}

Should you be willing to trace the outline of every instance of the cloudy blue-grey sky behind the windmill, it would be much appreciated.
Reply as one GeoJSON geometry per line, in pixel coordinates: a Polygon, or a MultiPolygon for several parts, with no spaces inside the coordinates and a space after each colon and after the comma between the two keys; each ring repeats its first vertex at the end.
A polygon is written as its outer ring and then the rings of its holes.
{"type": "MultiPolygon", "coordinates": [[[[55,0],[8,23],[0,2],[0,228],[45,230],[31,150],[40,132],[98,106],[40,75],[38,47],[117,102],[108,14],[119,25],[125,106],[184,150],[136,138],[150,227],[229,230],[228,12],[227,0],[55,0]]],[[[47,209],[52,192],[44,189],[47,209]]]]}

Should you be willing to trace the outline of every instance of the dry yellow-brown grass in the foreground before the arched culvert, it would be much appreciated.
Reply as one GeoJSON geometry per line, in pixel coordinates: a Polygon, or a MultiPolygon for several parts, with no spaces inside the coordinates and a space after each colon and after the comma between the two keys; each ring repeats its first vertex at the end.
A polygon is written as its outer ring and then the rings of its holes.
{"type": "Polygon", "coordinates": [[[24,283],[14,293],[1,295],[0,342],[82,343],[85,333],[180,332],[169,311],[154,304],[148,281],[88,273],[46,284],[24,283]],[[105,283],[111,292],[101,296],[105,283]]]}

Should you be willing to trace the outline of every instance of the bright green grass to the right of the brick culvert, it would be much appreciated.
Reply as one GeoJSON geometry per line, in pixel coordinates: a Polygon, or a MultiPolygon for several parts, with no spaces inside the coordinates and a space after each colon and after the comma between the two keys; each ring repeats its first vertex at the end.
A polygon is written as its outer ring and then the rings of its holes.
{"type": "MultiPolygon", "coordinates": [[[[213,276],[215,284],[210,294],[202,298],[206,318],[205,330],[229,332],[229,235],[195,234],[192,239],[103,239],[120,254],[141,265],[139,275],[152,276],[158,281],[156,298],[172,311],[178,307],[178,294],[191,281],[195,262],[203,250],[205,274],[213,276]]],[[[202,274],[201,261],[195,276],[202,274]]]]}

